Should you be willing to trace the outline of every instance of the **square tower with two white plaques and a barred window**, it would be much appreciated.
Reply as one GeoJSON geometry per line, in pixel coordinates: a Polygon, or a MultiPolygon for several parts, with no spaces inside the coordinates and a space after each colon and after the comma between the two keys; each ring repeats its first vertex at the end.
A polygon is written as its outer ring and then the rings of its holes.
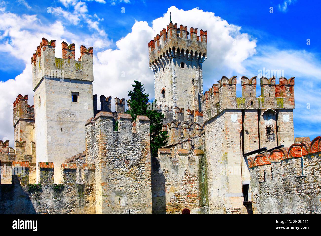
{"type": "Polygon", "coordinates": [[[207,163],[209,213],[250,213],[252,194],[249,153],[294,142],[294,77],[241,77],[242,97],[236,97],[236,76],[223,76],[204,93],[204,152],[207,163]]]}

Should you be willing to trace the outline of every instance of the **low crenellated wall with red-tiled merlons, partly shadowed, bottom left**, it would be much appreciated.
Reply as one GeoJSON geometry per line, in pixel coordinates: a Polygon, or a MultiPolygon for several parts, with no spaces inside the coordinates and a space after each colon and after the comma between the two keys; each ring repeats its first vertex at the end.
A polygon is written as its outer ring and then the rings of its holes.
{"type": "MultiPolygon", "coordinates": [[[[30,183],[30,163],[12,162],[12,184],[0,185],[1,214],[95,213],[95,167],[82,165],[82,182],[76,182],[77,167],[62,163],[62,183],[54,184],[52,162],[38,162],[38,183],[30,183]],[[14,209],[14,210],[13,210],[14,209]]],[[[1,181],[1,180],[0,180],[1,181]]]]}

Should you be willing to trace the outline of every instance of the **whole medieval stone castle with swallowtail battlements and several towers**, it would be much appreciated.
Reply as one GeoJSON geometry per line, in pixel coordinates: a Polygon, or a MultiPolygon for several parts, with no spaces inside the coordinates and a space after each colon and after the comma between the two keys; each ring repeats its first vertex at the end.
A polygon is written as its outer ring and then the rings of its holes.
{"type": "Polygon", "coordinates": [[[207,31],[172,22],[148,43],[166,146],[125,99],[93,95],[93,48],[43,38],[34,105],[13,102],[14,148],[0,140],[1,213],[321,213],[321,137],[294,138],[294,77],[223,76],[203,92],[207,31]],[[130,107],[129,107],[130,109],[130,107]],[[117,129],[115,128],[117,126],[117,129]],[[77,154],[78,153],[78,154],[77,154]]]}

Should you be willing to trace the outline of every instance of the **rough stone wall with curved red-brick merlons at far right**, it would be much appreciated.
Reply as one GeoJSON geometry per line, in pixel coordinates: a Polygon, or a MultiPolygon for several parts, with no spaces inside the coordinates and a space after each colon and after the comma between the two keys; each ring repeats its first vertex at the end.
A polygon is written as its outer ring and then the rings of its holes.
{"type": "Polygon", "coordinates": [[[320,213],[320,153],[318,136],[248,158],[254,213],[320,213]]]}

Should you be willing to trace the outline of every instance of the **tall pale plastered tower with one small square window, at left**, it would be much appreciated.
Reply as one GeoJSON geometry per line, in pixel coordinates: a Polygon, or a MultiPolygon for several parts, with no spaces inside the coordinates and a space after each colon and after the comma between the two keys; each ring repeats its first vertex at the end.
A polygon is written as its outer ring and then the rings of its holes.
{"type": "Polygon", "coordinates": [[[31,57],[34,91],[36,162],[53,162],[55,182],[61,163],[85,150],[85,123],[93,116],[93,48],[62,42],[62,58],[55,56],[56,40],[42,38],[31,57]]]}

